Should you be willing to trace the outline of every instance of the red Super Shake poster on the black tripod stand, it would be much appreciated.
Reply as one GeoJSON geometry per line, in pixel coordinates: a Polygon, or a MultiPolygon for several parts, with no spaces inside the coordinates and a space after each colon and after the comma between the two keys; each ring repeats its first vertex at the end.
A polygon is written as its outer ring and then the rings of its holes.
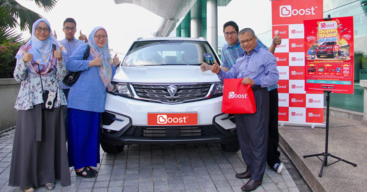
{"type": "Polygon", "coordinates": [[[304,20],[305,91],[353,94],[353,17],[304,20]]]}

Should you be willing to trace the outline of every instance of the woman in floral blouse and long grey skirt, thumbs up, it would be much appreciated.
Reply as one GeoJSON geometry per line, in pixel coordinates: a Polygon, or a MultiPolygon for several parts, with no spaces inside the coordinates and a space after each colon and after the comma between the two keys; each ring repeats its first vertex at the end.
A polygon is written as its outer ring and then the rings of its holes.
{"type": "Polygon", "coordinates": [[[57,41],[46,19],[33,23],[32,37],[15,58],[14,78],[22,82],[15,108],[18,119],[14,134],[9,186],[25,192],[45,185],[54,189],[55,179],[70,185],[62,105],[67,105],[58,80],[66,75],[65,48],[57,41]],[[43,93],[52,111],[42,109],[43,93]],[[47,98],[46,98],[47,99],[47,98]]]}

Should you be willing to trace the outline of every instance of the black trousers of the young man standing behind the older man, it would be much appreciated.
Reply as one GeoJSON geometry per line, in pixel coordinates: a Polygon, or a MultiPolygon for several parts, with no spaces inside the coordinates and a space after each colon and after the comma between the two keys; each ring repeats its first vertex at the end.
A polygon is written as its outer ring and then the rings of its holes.
{"type": "Polygon", "coordinates": [[[278,89],[269,91],[269,138],[268,155],[266,162],[270,167],[280,163],[280,152],[278,152],[279,132],[278,132],[278,89]]]}

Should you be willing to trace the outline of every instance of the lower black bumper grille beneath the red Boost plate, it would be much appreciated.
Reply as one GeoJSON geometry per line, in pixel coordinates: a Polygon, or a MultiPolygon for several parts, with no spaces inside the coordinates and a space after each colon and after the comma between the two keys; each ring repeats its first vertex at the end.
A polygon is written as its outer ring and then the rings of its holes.
{"type": "Polygon", "coordinates": [[[208,126],[197,127],[136,127],[134,136],[144,137],[185,137],[212,135],[208,126]]]}

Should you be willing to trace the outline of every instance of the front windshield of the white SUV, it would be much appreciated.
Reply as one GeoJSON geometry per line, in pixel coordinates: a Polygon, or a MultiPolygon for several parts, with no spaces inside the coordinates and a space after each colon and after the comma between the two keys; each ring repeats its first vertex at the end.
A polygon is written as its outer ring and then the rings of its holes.
{"type": "Polygon", "coordinates": [[[216,55],[204,41],[138,41],[126,54],[122,66],[200,65],[202,60],[213,64],[214,59],[217,59],[216,55]]]}

